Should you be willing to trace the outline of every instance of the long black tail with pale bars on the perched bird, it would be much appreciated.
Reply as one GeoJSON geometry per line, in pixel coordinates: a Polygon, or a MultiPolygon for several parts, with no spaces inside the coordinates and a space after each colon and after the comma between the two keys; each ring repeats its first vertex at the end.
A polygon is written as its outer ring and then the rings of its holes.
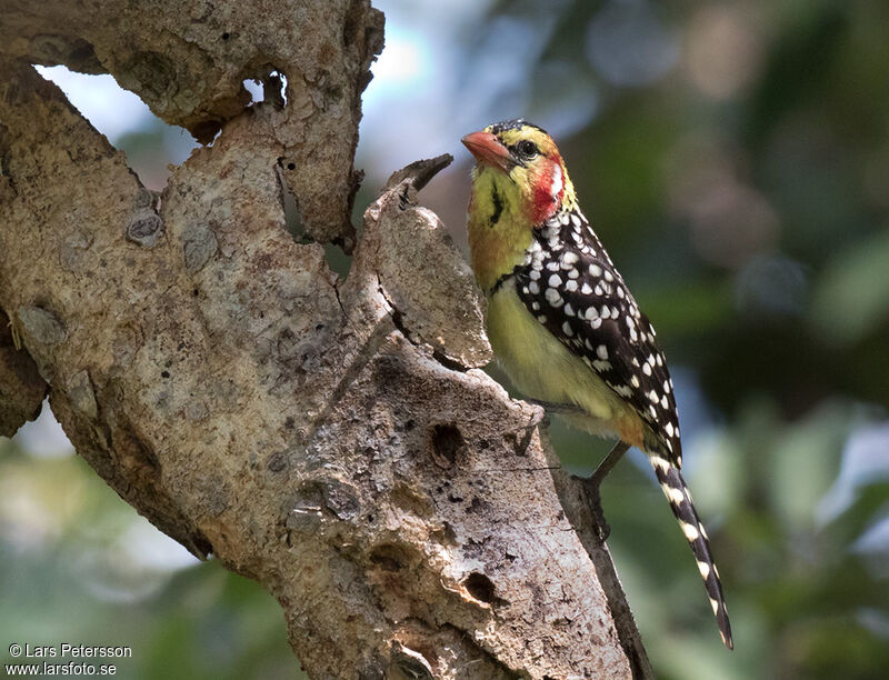
{"type": "Polygon", "coordinates": [[[710,606],[713,608],[713,616],[716,617],[722,642],[729,649],[735,649],[735,643],[731,640],[729,614],[726,611],[726,598],[722,594],[722,583],[719,581],[719,572],[713,563],[713,558],[710,556],[710,541],[707,538],[707,531],[705,531],[703,524],[698,518],[698,512],[695,510],[695,503],[686,486],[686,480],[682,479],[679,468],[660,456],[651,456],[649,460],[651,460],[651,464],[655,468],[655,474],[658,478],[660,488],[663,489],[667,500],[670,501],[670,508],[672,508],[673,514],[682,528],[682,533],[686,534],[689,546],[691,546],[691,552],[695,553],[698,571],[701,572],[703,587],[710,598],[710,606]]]}

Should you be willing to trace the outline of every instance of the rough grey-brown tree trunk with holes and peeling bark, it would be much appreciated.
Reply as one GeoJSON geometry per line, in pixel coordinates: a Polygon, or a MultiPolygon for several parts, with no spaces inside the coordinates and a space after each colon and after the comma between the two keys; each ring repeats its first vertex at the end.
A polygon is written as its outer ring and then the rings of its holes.
{"type": "Polygon", "coordinates": [[[0,10],[2,433],[48,389],[127,502],[278,599],[312,677],[649,676],[540,410],[479,370],[482,300],[416,202],[448,159],[393,176],[356,240],[382,16],[86,4],[0,10]],[[31,63],[110,72],[221,134],[157,197],[31,63]],[[253,77],[269,94],[247,106],[253,77]],[[309,243],[284,229],[288,193],[309,243]],[[348,280],[322,243],[354,246],[348,280]]]}

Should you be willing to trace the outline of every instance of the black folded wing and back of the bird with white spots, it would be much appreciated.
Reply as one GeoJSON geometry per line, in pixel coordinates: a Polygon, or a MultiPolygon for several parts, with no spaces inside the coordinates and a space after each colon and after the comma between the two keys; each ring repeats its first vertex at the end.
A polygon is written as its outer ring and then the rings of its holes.
{"type": "Polygon", "coordinates": [[[559,212],[535,230],[513,276],[535,318],[645,420],[652,452],[681,464],[673,383],[655,328],[580,210],[559,212]]]}

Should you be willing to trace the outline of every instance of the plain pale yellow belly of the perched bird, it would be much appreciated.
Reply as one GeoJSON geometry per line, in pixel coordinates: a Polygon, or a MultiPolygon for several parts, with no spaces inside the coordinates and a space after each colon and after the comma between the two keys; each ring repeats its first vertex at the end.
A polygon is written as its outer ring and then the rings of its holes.
{"type": "Polygon", "coordinates": [[[531,316],[512,279],[489,299],[487,328],[499,363],[528,397],[580,407],[583,413],[566,420],[593,434],[637,439],[638,416],[531,316]]]}

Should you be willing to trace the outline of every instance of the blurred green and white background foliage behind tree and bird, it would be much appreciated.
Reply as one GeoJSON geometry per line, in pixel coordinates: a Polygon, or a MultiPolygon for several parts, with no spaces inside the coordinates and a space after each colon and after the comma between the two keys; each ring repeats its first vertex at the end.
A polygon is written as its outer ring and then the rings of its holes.
{"type": "MultiPolygon", "coordinates": [[[[356,221],[447,151],[421,198],[465,247],[459,139],[526,117],[658,329],[737,646],[635,452],[603,504],[658,677],[889,678],[889,3],[374,6],[356,221]]],[[[110,77],[41,72],[151,188],[193,148],[110,77]]],[[[608,448],[551,437],[577,472],[608,448]]],[[[302,677],[272,599],[139,518],[48,409],[0,440],[0,640],[128,644],[124,678],[302,677]]]]}

